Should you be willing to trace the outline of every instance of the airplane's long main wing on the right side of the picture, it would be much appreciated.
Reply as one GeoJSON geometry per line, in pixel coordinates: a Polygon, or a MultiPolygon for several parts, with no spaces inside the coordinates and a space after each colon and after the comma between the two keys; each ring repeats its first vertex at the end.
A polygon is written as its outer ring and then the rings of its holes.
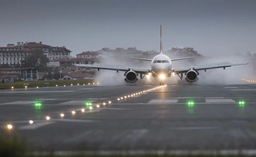
{"type": "Polygon", "coordinates": [[[201,65],[201,66],[194,66],[194,67],[180,67],[180,68],[173,68],[173,72],[175,73],[184,73],[189,70],[208,70],[208,69],[216,69],[216,68],[226,68],[226,67],[231,67],[234,65],[247,65],[250,62],[242,62],[242,63],[229,63],[229,62],[224,62],[224,63],[217,63],[217,64],[210,64],[210,65],[201,65]]]}

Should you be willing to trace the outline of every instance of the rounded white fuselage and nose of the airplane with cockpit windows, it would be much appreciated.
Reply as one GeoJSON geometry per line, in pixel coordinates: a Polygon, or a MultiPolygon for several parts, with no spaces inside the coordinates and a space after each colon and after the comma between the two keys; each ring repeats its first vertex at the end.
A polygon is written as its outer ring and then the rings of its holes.
{"type": "Polygon", "coordinates": [[[159,54],[152,59],[150,64],[150,71],[153,77],[164,75],[165,77],[170,77],[172,72],[171,59],[164,55],[159,54]]]}

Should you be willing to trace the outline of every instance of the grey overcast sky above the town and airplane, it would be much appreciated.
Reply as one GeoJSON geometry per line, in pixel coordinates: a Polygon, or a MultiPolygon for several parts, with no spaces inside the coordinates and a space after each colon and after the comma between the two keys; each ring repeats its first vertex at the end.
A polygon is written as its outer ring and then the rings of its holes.
{"type": "Polygon", "coordinates": [[[72,56],[102,47],[206,56],[256,52],[256,0],[0,0],[0,46],[42,41],[72,56]]]}

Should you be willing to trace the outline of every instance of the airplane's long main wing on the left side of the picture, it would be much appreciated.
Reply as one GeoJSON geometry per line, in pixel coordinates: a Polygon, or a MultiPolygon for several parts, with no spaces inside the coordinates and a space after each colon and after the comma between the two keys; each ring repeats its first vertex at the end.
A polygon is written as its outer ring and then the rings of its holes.
{"type": "Polygon", "coordinates": [[[105,69],[105,70],[115,70],[115,71],[134,71],[136,73],[139,74],[147,74],[150,72],[150,69],[148,68],[137,68],[137,67],[119,67],[119,66],[115,66],[115,65],[101,65],[101,64],[74,64],[74,66],[79,66],[79,67],[90,67],[90,68],[94,68],[94,69],[105,69]]]}

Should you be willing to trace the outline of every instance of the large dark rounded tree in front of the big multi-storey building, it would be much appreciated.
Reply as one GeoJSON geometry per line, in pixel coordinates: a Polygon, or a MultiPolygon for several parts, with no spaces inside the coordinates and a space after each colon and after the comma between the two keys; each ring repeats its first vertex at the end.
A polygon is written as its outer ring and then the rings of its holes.
{"type": "Polygon", "coordinates": [[[39,71],[45,71],[49,59],[42,49],[32,49],[30,55],[26,56],[21,65],[24,67],[36,67],[39,71]]]}

